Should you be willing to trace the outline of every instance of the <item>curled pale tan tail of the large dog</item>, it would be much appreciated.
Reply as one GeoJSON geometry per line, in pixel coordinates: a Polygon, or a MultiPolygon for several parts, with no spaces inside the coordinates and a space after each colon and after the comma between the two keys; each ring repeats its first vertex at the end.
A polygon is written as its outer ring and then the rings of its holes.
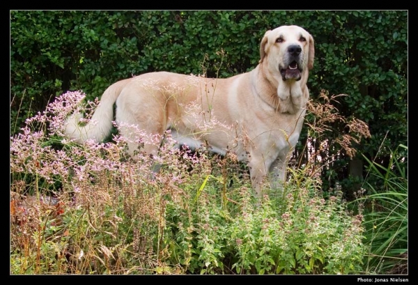
{"type": "Polygon", "coordinates": [[[109,86],[104,91],[97,109],[95,109],[91,120],[84,126],[79,125],[82,114],[76,113],[68,117],[65,123],[65,134],[69,139],[79,143],[87,139],[94,139],[97,142],[103,141],[111,132],[113,121],[113,106],[121,93],[123,87],[130,79],[121,80],[109,86]]]}

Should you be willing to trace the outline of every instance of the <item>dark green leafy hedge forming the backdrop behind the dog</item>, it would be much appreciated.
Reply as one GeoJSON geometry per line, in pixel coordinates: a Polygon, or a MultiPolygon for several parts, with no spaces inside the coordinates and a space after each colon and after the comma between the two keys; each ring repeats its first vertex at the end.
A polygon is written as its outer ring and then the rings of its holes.
{"type": "MultiPolygon", "coordinates": [[[[265,31],[283,24],[314,36],[313,100],[321,89],[348,94],[336,107],[368,123],[372,134],[359,153],[378,155],[384,164],[389,150],[408,139],[408,11],[402,10],[10,11],[11,134],[67,90],[93,99],[143,72],[229,77],[249,71],[265,31]]],[[[343,131],[335,125],[327,137],[343,131]]]]}

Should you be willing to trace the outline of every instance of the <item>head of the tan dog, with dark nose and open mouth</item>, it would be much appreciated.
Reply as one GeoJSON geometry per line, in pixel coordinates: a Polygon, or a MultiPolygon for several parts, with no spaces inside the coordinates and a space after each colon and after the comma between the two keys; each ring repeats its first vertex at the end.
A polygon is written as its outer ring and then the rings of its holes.
{"type": "Polygon", "coordinates": [[[314,67],[314,38],[300,26],[279,26],[265,32],[260,56],[260,63],[267,61],[270,72],[284,81],[297,81],[314,67]]]}

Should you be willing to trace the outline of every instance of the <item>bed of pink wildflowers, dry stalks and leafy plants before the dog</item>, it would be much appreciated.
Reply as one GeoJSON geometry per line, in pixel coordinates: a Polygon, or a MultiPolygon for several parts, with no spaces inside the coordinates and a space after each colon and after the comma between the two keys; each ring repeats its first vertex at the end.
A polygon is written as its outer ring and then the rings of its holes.
{"type": "Polygon", "coordinates": [[[363,271],[363,216],[339,192],[323,197],[317,165],[254,197],[234,155],[173,149],[169,132],[158,156],[135,161],[118,135],[66,140],[65,118],[83,98],[61,95],[10,138],[11,274],[363,271]]]}

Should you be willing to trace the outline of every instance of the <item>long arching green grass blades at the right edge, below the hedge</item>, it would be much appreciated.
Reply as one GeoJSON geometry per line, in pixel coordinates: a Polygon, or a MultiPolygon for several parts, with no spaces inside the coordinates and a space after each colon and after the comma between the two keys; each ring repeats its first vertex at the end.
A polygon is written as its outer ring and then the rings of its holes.
{"type": "Polygon", "coordinates": [[[408,146],[398,146],[387,167],[365,157],[369,176],[364,188],[368,192],[357,201],[366,205],[366,272],[408,274],[408,161],[404,151],[408,146]],[[379,186],[372,186],[376,180],[379,186]]]}

